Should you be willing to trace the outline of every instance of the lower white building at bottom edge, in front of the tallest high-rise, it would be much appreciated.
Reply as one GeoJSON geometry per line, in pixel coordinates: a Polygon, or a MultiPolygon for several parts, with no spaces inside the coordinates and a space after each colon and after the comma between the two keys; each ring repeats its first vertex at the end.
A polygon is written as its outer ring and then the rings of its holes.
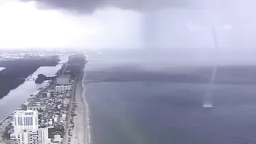
{"type": "Polygon", "coordinates": [[[18,144],[49,144],[48,128],[21,132],[17,141],[18,144]]]}

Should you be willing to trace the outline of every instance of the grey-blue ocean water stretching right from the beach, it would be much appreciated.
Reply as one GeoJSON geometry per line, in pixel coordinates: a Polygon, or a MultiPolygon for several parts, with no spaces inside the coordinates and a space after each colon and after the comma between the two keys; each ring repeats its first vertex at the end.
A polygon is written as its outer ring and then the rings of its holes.
{"type": "Polygon", "coordinates": [[[203,108],[212,67],[152,66],[144,58],[88,56],[92,143],[256,143],[256,66],[223,66],[213,84],[213,108],[203,108]]]}

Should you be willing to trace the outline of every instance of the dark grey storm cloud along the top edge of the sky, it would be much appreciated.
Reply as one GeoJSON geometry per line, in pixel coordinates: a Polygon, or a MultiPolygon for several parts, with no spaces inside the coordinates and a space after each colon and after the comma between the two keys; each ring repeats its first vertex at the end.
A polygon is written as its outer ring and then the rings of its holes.
{"type": "Polygon", "coordinates": [[[192,0],[37,0],[36,2],[40,8],[59,8],[74,12],[91,12],[95,9],[107,6],[136,11],[146,11],[157,8],[186,8],[191,6],[191,1],[192,0]]]}

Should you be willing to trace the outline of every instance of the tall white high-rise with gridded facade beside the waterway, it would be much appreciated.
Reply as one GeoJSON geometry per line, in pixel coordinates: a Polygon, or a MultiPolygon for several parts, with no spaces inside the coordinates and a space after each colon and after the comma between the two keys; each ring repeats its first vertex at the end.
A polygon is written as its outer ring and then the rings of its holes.
{"type": "Polygon", "coordinates": [[[14,114],[14,135],[18,138],[18,134],[24,130],[38,129],[38,112],[37,110],[18,110],[14,114]]]}

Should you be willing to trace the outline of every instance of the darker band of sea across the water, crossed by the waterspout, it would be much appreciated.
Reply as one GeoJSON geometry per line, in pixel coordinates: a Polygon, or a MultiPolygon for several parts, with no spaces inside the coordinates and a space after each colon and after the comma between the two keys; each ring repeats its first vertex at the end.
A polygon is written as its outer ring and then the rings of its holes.
{"type": "MultiPolygon", "coordinates": [[[[178,82],[178,83],[202,83],[210,82],[213,68],[174,69],[165,71],[150,71],[129,66],[116,66],[111,69],[86,72],[87,83],[95,82],[178,82]]],[[[227,66],[220,67],[216,72],[216,84],[230,85],[256,85],[256,66],[227,66]]]]}

